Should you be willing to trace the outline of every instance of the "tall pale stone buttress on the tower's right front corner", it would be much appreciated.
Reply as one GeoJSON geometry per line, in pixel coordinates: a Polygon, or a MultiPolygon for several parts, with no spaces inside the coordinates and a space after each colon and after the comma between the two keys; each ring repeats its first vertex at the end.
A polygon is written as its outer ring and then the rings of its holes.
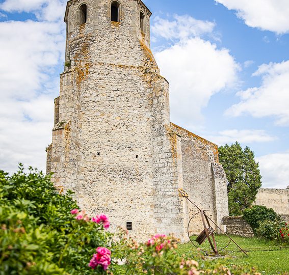
{"type": "Polygon", "coordinates": [[[164,78],[155,75],[151,81],[151,87],[153,199],[156,233],[174,233],[185,241],[187,235],[185,234],[183,201],[178,196],[178,188],[182,186],[181,151],[178,137],[168,127],[170,123],[169,86],[164,78]]]}

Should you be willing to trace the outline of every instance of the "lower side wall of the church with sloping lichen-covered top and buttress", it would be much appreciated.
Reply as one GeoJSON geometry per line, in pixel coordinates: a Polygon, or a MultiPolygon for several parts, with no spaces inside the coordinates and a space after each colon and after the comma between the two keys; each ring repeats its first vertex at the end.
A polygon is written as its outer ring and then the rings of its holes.
{"type": "MultiPolygon", "coordinates": [[[[228,215],[228,200],[226,175],[218,163],[218,147],[173,123],[171,127],[181,140],[183,189],[221,227],[222,218],[228,215]]],[[[198,212],[190,203],[187,207],[190,218],[198,212]]],[[[200,215],[192,220],[189,230],[192,234],[203,230],[200,215]]]]}

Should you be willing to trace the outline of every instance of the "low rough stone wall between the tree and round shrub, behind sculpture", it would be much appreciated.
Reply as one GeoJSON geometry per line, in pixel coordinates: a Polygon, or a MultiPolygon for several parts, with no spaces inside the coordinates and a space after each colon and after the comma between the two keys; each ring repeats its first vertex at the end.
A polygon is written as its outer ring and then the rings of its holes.
{"type": "Polygon", "coordinates": [[[244,221],[242,216],[223,217],[223,225],[226,226],[227,234],[253,238],[254,232],[251,226],[244,221]]]}

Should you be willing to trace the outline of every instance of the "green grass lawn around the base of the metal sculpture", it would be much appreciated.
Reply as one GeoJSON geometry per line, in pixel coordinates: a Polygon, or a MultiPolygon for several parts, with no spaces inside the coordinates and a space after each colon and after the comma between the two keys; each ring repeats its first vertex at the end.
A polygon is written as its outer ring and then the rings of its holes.
{"type": "MultiPolygon", "coordinates": [[[[248,257],[243,253],[234,251],[237,248],[235,244],[231,243],[226,251],[223,253],[229,257],[226,259],[218,260],[205,260],[202,264],[205,267],[213,267],[218,263],[224,266],[238,265],[238,266],[250,266],[256,267],[258,272],[262,274],[284,274],[289,272],[289,249],[276,249],[274,246],[280,246],[274,241],[267,241],[258,238],[243,238],[238,236],[231,236],[235,242],[237,242],[244,250],[249,251],[248,257]],[[261,248],[261,250],[256,251],[255,248],[261,248]],[[265,251],[265,250],[275,250],[275,251],[265,251]]],[[[216,236],[217,245],[222,248],[228,243],[228,238],[223,235],[216,236]]],[[[207,241],[202,244],[202,249],[208,249],[209,244],[207,241]]],[[[196,248],[191,243],[180,244],[177,249],[177,254],[179,256],[185,255],[188,258],[194,258],[198,254],[196,248]]]]}

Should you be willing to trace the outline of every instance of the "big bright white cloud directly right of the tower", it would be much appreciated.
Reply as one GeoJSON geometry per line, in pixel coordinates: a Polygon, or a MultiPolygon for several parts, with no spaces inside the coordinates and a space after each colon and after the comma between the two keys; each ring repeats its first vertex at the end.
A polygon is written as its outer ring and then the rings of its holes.
{"type": "Polygon", "coordinates": [[[156,52],[155,58],[162,75],[170,82],[172,121],[196,127],[209,99],[235,85],[240,66],[228,49],[218,49],[216,44],[199,37],[179,38],[182,39],[173,46],[156,52]]]}

